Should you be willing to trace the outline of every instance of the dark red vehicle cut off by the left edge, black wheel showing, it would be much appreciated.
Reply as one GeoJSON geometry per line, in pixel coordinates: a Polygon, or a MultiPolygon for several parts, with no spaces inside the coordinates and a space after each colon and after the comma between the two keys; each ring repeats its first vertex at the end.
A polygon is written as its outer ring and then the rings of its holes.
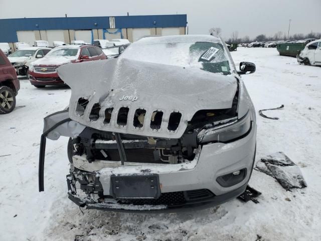
{"type": "Polygon", "coordinates": [[[0,50],[0,113],[9,113],[16,107],[20,82],[16,70],[5,53],[0,50]]]}

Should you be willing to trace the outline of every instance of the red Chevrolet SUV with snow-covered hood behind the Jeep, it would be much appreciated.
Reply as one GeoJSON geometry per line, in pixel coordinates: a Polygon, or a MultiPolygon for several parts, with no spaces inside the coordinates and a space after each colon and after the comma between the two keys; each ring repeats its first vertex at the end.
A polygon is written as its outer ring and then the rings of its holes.
{"type": "Polygon", "coordinates": [[[57,68],[67,63],[80,63],[107,59],[106,55],[92,45],[63,45],[51,50],[44,58],[36,60],[29,66],[30,83],[37,88],[46,85],[65,85],[59,78],[57,68]]]}

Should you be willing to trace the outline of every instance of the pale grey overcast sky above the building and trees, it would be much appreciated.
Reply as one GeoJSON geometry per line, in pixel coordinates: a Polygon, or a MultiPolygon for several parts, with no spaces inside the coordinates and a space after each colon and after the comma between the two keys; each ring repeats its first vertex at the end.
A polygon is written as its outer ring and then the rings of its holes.
{"type": "Polygon", "coordinates": [[[224,38],[233,31],[251,38],[276,32],[290,35],[321,32],[321,0],[0,0],[0,18],[90,17],[187,14],[189,34],[208,34],[220,27],[224,38]]]}

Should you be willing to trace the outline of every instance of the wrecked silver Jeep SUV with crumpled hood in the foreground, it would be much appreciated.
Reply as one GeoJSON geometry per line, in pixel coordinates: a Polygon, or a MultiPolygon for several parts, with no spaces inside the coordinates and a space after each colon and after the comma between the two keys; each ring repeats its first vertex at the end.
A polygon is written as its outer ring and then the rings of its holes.
{"type": "Polygon", "coordinates": [[[255,110],[221,39],[148,37],[117,59],[66,64],[69,108],[45,117],[46,138],[70,137],[68,196],[113,211],[205,208],[230,200],[250,179],[255,110]],[[90,70],[90,71],[88,71],[90,70]],[[92,81],[88,81],[92,80],[92,81]]]}

